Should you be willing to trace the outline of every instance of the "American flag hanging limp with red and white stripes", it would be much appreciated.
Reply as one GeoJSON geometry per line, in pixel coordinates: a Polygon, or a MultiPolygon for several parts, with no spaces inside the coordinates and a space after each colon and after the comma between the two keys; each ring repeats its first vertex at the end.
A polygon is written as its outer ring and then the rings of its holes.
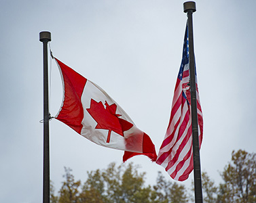
{"type": "MultiPolygon", "coordinates": [[[[196,67],[195,67],[196,68],[196,67]]],[[[196,99],[198,108],[199,145],[202,143],[203,120],[196,80],[196,99]]],[[[191,127],[191,103],[189,85],[189,39],[186,26],[183,57],[172,99],[170,122],[158,154],[157,164],[165,168],[167,173],[177,181],[185,181],[193,171],[191,127]]]]}

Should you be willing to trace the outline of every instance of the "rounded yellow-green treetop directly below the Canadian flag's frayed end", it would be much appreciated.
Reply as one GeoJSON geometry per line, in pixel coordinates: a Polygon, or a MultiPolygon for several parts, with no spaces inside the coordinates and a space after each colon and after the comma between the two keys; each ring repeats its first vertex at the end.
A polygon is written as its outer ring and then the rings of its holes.
{"type": "MultiPolygon", "coordinates": [[[[108,168],[88,172],[88,179],[82,187],[80,202],[105,203],[147,203],[150,187],[144,187],[145,173],[138,173],[137,166],[109,164],[108,168]]],[[[149,202],[151,203],[151,202],[149,202]]]]}

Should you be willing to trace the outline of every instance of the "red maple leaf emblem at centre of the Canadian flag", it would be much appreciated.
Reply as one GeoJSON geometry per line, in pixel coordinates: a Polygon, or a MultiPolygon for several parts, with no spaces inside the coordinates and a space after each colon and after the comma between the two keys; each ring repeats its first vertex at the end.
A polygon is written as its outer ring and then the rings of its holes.
{"type": "Polygon", "coordinates": [[[91,99],[90,108],[87,108],[86,110],[97,122],[95,129],[109,130],[107,135],[107,143],[109,143],[111,131],[124,137],[124,131],[128,131],[133,125],[122,118],[118,118],[121,115],[115,114],[117,109],[116,104],[111,104],[111,106],[109,106],[107,101],[105,101],[105,106],[106,108],[103,106],[102,101],[97,102],[94,99],[91,99]]]}

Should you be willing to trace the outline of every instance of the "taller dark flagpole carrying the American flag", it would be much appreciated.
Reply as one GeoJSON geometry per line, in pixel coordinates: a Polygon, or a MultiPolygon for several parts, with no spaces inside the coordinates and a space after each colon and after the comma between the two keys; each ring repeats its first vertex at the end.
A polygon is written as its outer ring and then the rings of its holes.
{"type": "Polygon", "coordinates": [[[196,68],[194,58],[194,39],[193,39],[193,13],[196,12],[196,3],[187,1],[183,3],[184,12],[187,13],[187,23],[189,29],[189,75],[190,75],[190,93],[191,93],[191,119],[192,119],[192,137],[193,137],[193,156],[194,156],[194,187],[195,202],[202,202],[202,180],[200,166],[200,148],[198,139],[198,110],[196,99],[196,68]]]}

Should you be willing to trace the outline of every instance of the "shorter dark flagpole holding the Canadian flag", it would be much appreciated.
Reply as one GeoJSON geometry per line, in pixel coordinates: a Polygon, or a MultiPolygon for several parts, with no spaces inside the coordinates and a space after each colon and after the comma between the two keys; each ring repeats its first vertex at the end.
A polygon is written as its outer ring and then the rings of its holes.
{"type": "Polygon", "coordinates": [[[50,203],[48,42],[51,32],[40,32],[39,41],[43,43],[43,203],[50,203]]]}

